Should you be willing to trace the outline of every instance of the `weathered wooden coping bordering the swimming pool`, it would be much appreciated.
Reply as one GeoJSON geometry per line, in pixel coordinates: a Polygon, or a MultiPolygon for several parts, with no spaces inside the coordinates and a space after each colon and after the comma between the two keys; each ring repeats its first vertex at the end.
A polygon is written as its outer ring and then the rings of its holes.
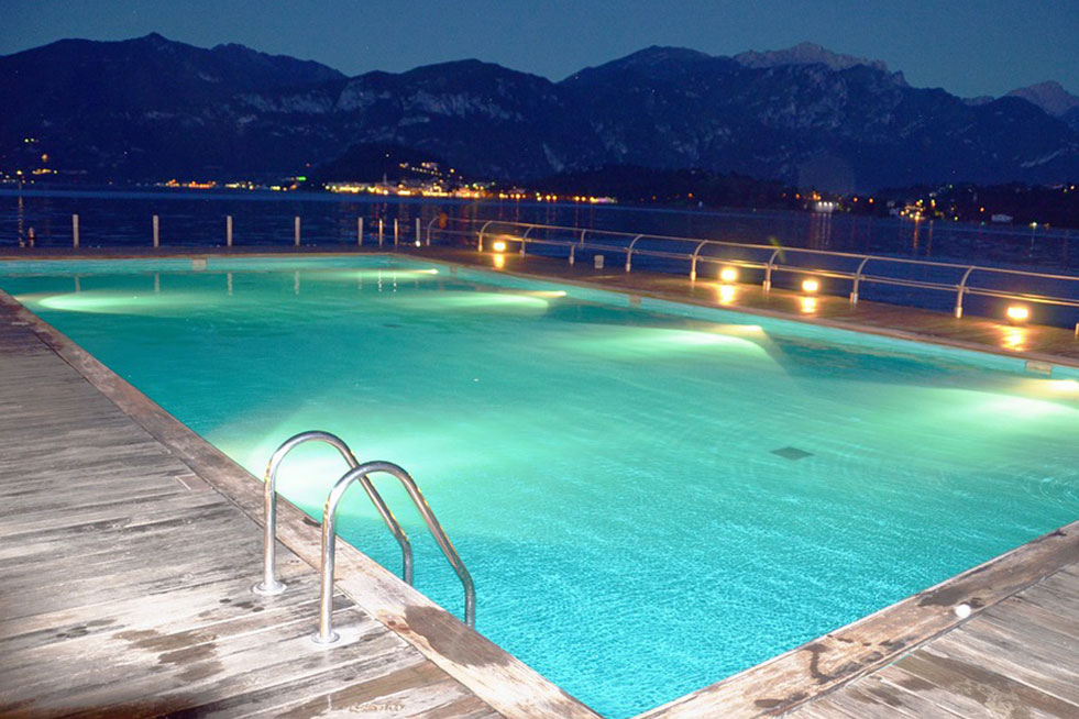
{"type": "MultiPolygon", "coordinates": [[[[208,253],[195,254],[208,256],[208,253]]],[[[267,254],[268,256],[282,256],[274,253],[267,254]]],[[[463,268],[481,272],[484,269],[450,259],[434,259],[425,255],[406,255],[386,252],[385,250],[362,253],[319,252],[304,253],[302,255],[290,254],[290,256],[297,258],[315,254],[337,256],[386,254],[412,258],[423,257],[463,268]]],[[[190,257],[189,254],[178,256],[190,257]]],[[[256,255],[245,254],[245,256],[253,257],[256,255]]],[[[157,257],[164,258],[161,255],[157,257]]],[[[60,259],[59,257],[55,258],[60,259]]],[[[88,259],[88,257],[67,256],[63,259],[88,259]]],[[[102,257],[102,259],[106,258],[102,257]]],[[[109,257],[108,259],[120,259],[120,257],[109,257]]],[[[560,281],[615,294],[712,307],[706,302],[661,292],[613,288],[605,285],[528,273],[506,270],[502,270],[502,273],[526,279],[560,281]]],[[[234,461],[2,289],[0,289],[0,307],[9,309],[14,317],[27,322],[34,334],[57,356],[75,368],[135,423],[174,452],[180,461],[224,495],[241,511],[257,524],[263,524],[261,480],[253,477],[234,461]]],[[[756,309],[738,311],[805,322],[803,318],[775,311],[759,312],[756,309]]],[[[1020,356],[993,352],[991,349],[980,345],[943,343],[933,338],[912,336],[904,332],[884,332],[881,331],[881,328],[862,330],[855,324],[826,323],[819,319],[812,323],[928,344],[944,344],[945,346],[975,350],[1013,358],[1020,356]]],[[[1044,356],[1052,358],[1057,364],[1069,364],[1057,362],[1060,358],[1056,355],[1044,356]]],[[[307,516],[287,500],[279,504],[278,512],[278,541],[306,563],[318,567],[321,538],[317,535],[317,530],[309,526],[309,520],[305,521],[307,516]]],[[[722,709],[724,716],[730,719],[751,719],[790,711],[894,662],[917,646],[964,623],[967,619],[959,619],[953,611],[956,605],[968,604],[972,609],[970,617],[976,617],[984,609],[1076,562],[1079,562],[1079,520],[1031,540],[983,564],[949,577],[899,602],[883,607],[783,654],[664,705],[646,710],[637,715],[635,719],[689,719],[690,717],[703,716],[702,712],[714,712],[717,709],[722,709]],[[998,582],[997,586],[991,586],[992,583],[998,582]],[[983,593],[984,596],[977,593],[979,587],[987,585],[990,586],[989,591],[983,593]],[[889,627],[893,630],[890,637],[881,639],[877,635],[880,629],[889,627]],[[917,631],[914,633],[901,631],[910,628],[917,631]],[[896,634],[899,634],[898,638],[895,638],[896,634]],[[832,666],[836,663],[838,663],[837,666],[832,666]],[[832,673],[828,673],[829,670],[832,673]],[[766,692],[766,689],[773,687],[785,687],[788,693],[766,692]],[[805,689],[810,690],[806,692],[805,689]],[[781,696],[771,696],[775,694],[781,694],[781,696]]],[[[253,571],[253,575],[255,574],[257,574],[257,567],[253,571]]],[[[341,578],[337,580],[335,586],[352,597],[361,609],[401,637],[427,659],[434,662],[480,699],[507,718],[581,717],[582,719],[601,719],[599,715],[573,698],[564,689],[542,677],[535,670],[483,635],[465,628],[455,617],[405,585],[395,575],[343,540],[339,543],[338,576],[341,578]],[[411,616],[409,615],[410,610],[411,616]],[[495,671],[496,668],[504,671],[495,671]],[[537,706],[537,703],[540,706],[537,706]]]]}

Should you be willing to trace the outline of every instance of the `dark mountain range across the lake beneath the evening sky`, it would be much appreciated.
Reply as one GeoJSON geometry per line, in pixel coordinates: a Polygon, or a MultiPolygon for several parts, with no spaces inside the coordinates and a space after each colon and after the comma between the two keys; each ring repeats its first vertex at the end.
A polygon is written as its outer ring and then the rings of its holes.
{"type": "Polygon", "coordinates": [[[289,176],[393,144],[506,180],[605,165],[858,191],[1079,178],[1079,98],[1059,85],[964,99],[808,43],[649,47],[553,82],[478,60],[350,78],[240,45],[64,40],[0,57],[0,98],[9,174],[289,176]]]}

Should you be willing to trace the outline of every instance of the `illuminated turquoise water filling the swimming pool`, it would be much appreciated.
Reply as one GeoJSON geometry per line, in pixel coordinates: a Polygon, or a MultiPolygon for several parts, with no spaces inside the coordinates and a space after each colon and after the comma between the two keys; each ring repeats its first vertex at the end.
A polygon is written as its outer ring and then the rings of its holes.
{"type": "MultiPolygon", "coordinates": [[[[1079,374],[1060,368],[385,257],[8,263],[0,287],[256,476],[309,429],[405,466],[475,577],[477,629],[608,717],[1079,508],[1079,374]]],[[[304,447],[283,491],[320,515],[342,469],[304,447]]],[[[378,484],[417,587],[460,616],[378,484]]],[[[353,493],[344,535],[398,571],[353,493]]]]}

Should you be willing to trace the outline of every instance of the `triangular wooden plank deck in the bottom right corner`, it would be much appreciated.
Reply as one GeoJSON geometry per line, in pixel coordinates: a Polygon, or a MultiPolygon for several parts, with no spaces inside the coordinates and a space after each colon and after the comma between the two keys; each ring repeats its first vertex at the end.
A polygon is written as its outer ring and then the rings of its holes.
{"type": "Polygon", "coordinates": [[[1079,717],[1072,564],[789,719],[1079,717]]]}

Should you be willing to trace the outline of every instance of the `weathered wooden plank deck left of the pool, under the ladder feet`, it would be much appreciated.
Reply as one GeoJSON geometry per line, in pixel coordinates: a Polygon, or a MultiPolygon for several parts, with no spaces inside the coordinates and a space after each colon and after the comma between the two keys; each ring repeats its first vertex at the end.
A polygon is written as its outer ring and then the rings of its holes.
{"type": "Polygon", "coordinates": [[[502,715],[261,530],[0,307],[0,716],[502,715]]]}

